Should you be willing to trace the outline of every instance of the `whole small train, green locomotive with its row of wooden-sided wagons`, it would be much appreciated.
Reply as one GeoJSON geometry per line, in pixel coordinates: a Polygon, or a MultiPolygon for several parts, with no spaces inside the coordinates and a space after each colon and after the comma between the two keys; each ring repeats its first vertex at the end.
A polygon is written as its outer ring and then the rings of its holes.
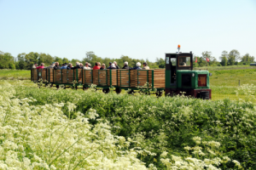
{"type": "Polygon", "coordinates": [[[31,80],[43,80],[51,85],[64,85],[65,87],[84,89],[95,84],[102,88],[104,93],[109,88],[115,88],[117,94],[122,89],[155,90],[157,95],[165,91],[166,96],[183,93],[195,98],[211,99],[212,90],[209,85],[208,71],[193,71],[193,54],[180,53],[166,54],[166,70],[82,70],[82,69],[32,69],[31,80]]]}

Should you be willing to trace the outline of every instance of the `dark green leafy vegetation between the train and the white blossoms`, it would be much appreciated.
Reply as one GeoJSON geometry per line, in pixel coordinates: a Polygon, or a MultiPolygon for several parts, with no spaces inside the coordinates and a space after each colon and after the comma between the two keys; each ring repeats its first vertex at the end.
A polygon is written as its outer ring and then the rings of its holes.
{"type": "MultiPolygon", "coordinates": [[[[160,161],[160,154],[164,151],[174,156],[187,156],[183,148],[195,144],[193,137],[198,136],[203,141],[218,142],[220,158],[228,156],[241,162],[245,169],[256,168],[256,149],[252,147],[256,144],[256,115],[251,102],[230,99],[207,101],[183,96],[156,98],[112,92],[102,94],[92,90],[15,89],[19,99],[36,99],[31,105],[64,103],[62,111],[67,116],[73,114],[68,111],[67,103],[73,103],[77,106],[76,111],[82,113],[95,109],[103,120],[111,123],[115,135],[137,141],[131,146],[157,154],[140,157],[147,165],[154,161],[160,169],[165,168],[166,164],[160,161]]],[[[212,159],[206,156],[196,158],[212,159]]],[[[218,165],[220,168],[224,166],[233,168],[234,162],[218,165]]]]}

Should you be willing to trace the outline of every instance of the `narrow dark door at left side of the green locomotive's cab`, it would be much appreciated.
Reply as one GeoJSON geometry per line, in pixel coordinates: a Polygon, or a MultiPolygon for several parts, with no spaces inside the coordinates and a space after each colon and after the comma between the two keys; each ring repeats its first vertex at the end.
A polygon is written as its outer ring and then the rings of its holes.
{"type": "Polygon", "coordinates": [[[177,54],[166,54],[166,88],[177,88],[177,54]]]}

